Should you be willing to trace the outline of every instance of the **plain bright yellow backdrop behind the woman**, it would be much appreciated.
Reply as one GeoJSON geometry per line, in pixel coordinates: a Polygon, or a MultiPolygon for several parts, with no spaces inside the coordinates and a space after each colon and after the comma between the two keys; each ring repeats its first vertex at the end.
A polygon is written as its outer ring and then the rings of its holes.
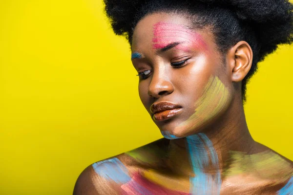
{"type": "MultiPolygon", "coordinates": [[[[102,0],[0,1],[0,195],[70,195],[89,164],[161,138],[102,0]]],[[[293,47],[248,86],[252,136],[293,160],[293,47]]]]}

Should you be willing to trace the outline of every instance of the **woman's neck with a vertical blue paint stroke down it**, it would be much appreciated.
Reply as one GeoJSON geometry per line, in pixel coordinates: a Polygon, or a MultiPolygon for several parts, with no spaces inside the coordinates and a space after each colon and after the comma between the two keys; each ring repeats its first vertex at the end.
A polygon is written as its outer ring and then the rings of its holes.
{"type": "Polygon", "coordinates": [[[230,151],[260,152],[240,105],[239,102],[230,104],[221,117],[200,133],[170,140],[167,165],[172,172],[182,176],[222,173],[230,151]]]}

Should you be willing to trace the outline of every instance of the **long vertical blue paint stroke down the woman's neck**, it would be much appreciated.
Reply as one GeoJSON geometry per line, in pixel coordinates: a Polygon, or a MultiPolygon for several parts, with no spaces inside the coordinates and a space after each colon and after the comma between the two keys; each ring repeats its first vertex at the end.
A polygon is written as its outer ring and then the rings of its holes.
{"type": "Polygon", "coordinates": [[[209,138],[199,133],[187,137],[189,158],[195,176],[190,176],[190,193],[193,195],[220,195],[221,173],[218,155],[209,138]],[[207,149],[208,151],[207,151],[207,149]],[[218,170],[215,174],[206,174],[203,169],[209,165],[218,170]]]}

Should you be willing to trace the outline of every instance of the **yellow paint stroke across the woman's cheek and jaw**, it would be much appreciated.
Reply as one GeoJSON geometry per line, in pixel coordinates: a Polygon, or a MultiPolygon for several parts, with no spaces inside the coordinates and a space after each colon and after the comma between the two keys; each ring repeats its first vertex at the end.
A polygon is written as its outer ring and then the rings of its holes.
{"type": "Polygon", "coordinates": [[[192,129],[203,127],[228,107],[229,99],[229,91],[221,80],[217,76],[210,77],[203,95],[194,104],[194,114],[176,126],[174,132],[184,134],[192,129]]]}

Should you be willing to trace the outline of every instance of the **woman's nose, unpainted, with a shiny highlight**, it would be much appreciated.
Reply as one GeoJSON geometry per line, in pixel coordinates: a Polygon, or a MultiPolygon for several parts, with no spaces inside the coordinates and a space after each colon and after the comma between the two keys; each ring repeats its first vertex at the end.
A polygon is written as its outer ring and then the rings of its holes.
{"type": "Polygon", "coordinates": [[[171,94],[173,91],[173,85],[165,70],[154,71],[147,94],[153,98],[160,98],[161,96],[171,94]]]}

